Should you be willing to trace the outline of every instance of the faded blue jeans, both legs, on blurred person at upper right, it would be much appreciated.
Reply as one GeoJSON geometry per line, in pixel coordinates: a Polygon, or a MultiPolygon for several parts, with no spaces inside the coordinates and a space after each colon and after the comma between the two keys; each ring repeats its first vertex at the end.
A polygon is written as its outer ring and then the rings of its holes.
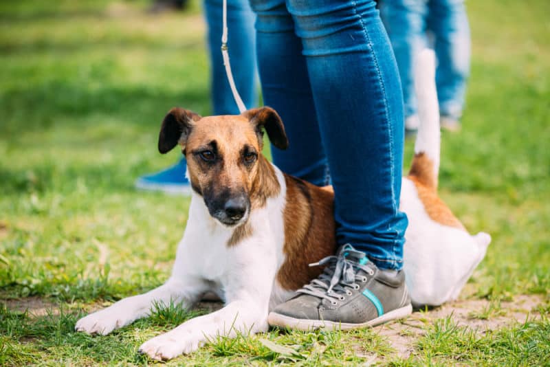
{"type": "Polygon", "coordinates": [[[470,72],[470,27],[464,0],[382,0],[382,19],[388,30],[403,84],[405,117],[417,113],[412,62],[434,36],[437,56],[437,96],[441,115],[462,115],[470,72]]]}

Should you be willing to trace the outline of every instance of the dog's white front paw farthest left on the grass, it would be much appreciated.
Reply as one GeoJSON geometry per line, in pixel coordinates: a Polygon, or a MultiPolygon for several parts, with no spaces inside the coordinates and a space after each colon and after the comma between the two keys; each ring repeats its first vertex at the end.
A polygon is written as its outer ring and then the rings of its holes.
{"type": "Polygon", "coordinates": [[[88,334],[107,335],[131,322],[124,310],[104,309],[87,315],[76,322],[74,329],[88,334]]]}

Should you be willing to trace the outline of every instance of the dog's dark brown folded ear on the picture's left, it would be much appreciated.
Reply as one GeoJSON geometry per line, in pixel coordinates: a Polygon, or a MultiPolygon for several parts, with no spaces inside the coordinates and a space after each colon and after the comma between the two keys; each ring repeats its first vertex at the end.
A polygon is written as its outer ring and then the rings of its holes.
{"type": "Polygon", "coordinates": [[[192,127],[192,122],[199,121],[197,113],[174,107],[162,120],[159,133],[159,152],[164,154],[172,150],[178,143],[185,146],[192,127]]]}

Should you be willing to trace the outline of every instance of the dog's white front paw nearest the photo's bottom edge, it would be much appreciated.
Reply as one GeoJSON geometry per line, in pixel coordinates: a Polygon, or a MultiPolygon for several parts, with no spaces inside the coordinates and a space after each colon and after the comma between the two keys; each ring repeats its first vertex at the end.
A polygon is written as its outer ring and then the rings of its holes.
{"type": "Polygon", "coordinates": [[[183,353],[196,351],[200,346],[201,339],[201,337],[192,337],[192,335],[182,336],[170,332],[144,342],[140,346],[140,352],[153,359],[172,359],[183,353]]]}

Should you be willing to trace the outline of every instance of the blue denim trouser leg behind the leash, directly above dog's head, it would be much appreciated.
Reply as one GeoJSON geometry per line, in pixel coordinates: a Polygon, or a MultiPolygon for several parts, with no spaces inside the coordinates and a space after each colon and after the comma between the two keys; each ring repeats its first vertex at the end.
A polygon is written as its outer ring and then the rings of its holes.
{"type": "MultiPolygon", "coordinates": [[[[204,13],[208,25],[210,56],[210,93],[214,115],[238,115],[239,108],[231,93],[221,56],[222,0],[205,0],[204,13]]],[[[228,0],[228,46],[231,70],[237,91],[247,108],[256,107],[256,42],[254,20],[248,0],[228,0]]]]}

